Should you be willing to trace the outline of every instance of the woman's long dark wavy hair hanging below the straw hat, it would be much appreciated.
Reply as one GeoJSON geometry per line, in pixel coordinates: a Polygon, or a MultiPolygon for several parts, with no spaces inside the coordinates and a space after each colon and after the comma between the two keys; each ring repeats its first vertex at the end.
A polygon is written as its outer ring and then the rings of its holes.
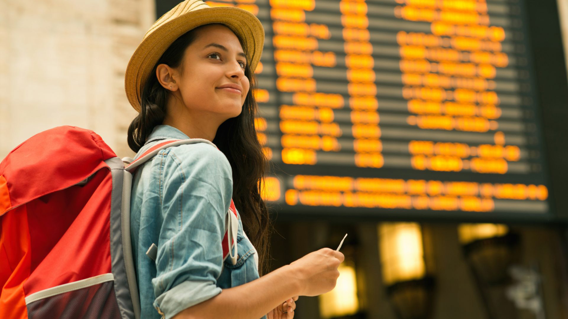
{"type": "MultiPolygon", "coordinates": [[[[171,92],[158,82],[157,66],[162,63],[169,65],[170,68],[181,66],[180,71],[183,73],[183,53],[195,40],[195,31],[198,28],[200,27],[178,37],[154,65],[141,93],[140,113],[128,127],[128,146],[134,152],[140,150],[154,127],[162,124],[166,115],[166,103],[171,92]]],[[[244,47],[243,41],[240,38],[239,41],[246,53],[247,48],[244,47]]],[[[250,89],[243,110],[239,116],[227,119],[219,125],[212,142],[231,163],[233,201],[235,207],[239,209],[244,231],[258,251],[258,272],[262,276],[268,272],[273,225],[268,208],[260,196],[260,181],[264,182],[270,164],[262,152],[254,127],[254,115],[258,108],[253,95],[256,79],[249,64],[245,68],[245,76],[250,81],[250,89]]]]}

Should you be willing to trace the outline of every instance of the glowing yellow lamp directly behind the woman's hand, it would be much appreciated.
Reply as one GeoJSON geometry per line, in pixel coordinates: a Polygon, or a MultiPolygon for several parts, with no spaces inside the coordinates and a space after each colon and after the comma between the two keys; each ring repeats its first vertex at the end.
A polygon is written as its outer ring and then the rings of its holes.
{"type": "Polygon", "coordinates": [[[337,270],[339,278],[335,288],[318,296],[322,318],[348,316],[357,313],[359,309],[357,275],[353,262],[345,261],[337,270]]]}

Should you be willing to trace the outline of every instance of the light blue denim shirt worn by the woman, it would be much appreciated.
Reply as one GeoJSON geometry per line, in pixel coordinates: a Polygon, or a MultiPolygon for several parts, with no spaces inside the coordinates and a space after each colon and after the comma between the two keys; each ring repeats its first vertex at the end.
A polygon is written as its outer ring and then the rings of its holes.
{"type": "MultiPolygon", "coordinates": [[[[177,128],[157,125],[135,159],[168,138],[189,137],[177,128]]],[[[232,194],[227,157],[204,142],[161,150],[137,169],[130,229],[141,318],[172,318],[223,288],[259,278],[258,254],[238,211],[237,262],[223,260],[225,215],[232,194]],[[146,255],[152,244],[157,246],[155,262],[146,255]]]]}

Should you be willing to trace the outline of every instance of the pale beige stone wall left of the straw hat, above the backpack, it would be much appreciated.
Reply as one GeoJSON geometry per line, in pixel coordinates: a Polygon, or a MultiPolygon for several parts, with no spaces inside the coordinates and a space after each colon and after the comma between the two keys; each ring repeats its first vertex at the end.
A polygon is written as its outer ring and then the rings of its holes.
{"type": "Polygon", "coordinates": [[[131,156],[124,70],[154,12],[153,0],[2,2],[0,159],[59,125],[93,129],[131,156]]]}

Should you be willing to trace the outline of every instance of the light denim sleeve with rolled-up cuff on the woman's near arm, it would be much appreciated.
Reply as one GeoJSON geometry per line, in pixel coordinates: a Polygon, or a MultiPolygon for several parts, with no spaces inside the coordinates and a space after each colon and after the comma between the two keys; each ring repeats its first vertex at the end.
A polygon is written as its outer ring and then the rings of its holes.
{"type": "Polygon", "coordinates": [[[225,155],[204,143],[177,146],[161,158],[162,217],[154,307],[169,319],[218,295],[225,214],[232,171],[225,155]]]}

